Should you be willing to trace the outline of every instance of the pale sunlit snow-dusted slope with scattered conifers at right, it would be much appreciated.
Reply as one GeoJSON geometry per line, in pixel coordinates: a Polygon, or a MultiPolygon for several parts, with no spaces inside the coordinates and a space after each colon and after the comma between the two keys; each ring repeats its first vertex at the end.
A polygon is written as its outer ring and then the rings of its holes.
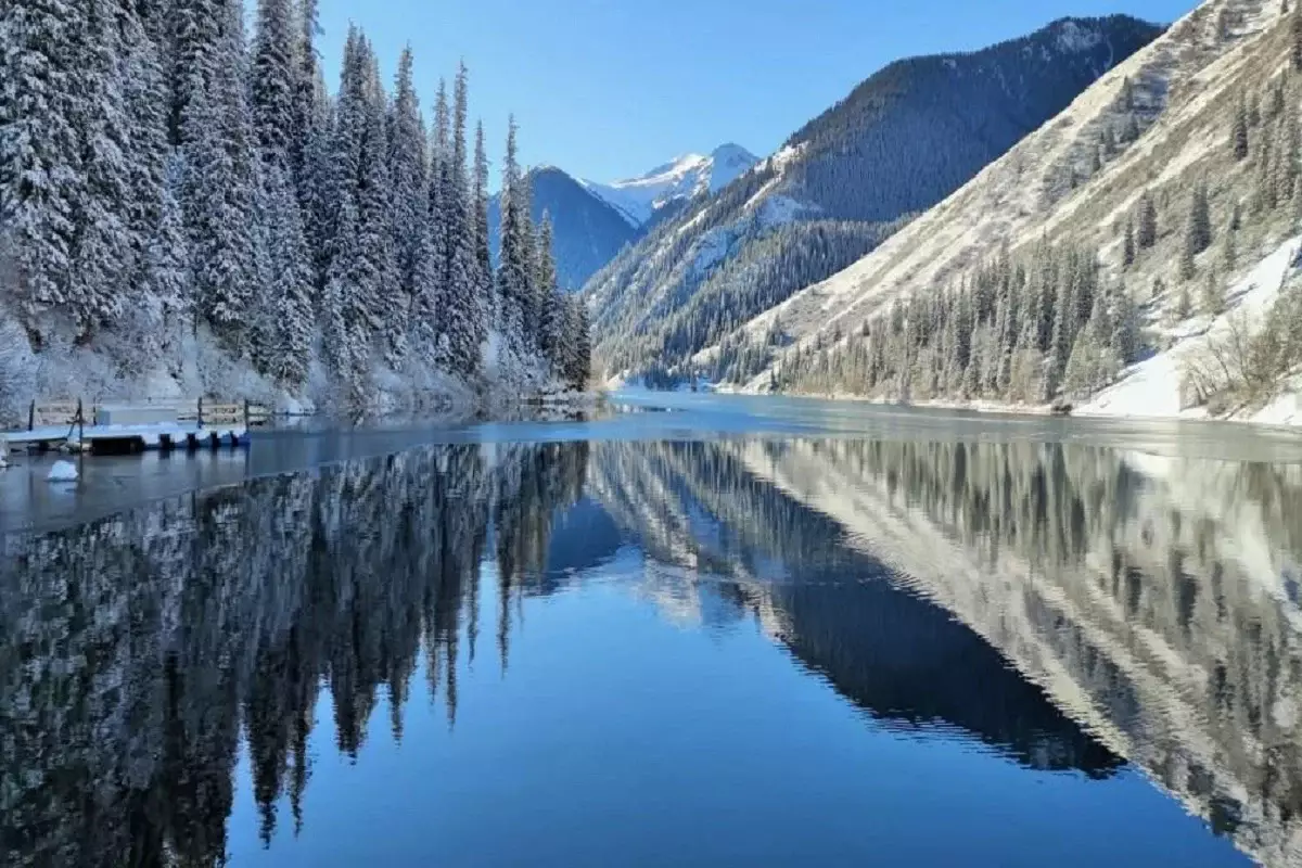
{"type": "Polygon", "coordinates": [[[751,390],[1295,420],[1299,73],[1297,4],[1204,3],[695,364],[751,390]]]}

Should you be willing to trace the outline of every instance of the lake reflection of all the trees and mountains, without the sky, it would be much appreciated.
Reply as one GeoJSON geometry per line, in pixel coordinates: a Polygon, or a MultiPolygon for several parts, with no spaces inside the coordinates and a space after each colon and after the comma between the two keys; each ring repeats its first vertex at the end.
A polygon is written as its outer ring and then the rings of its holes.
{"type": "Polygon", "coordinates": [[[314,725],[354,761],[404,739],[413,695],[453,725],[467,661],[512,677],[529,601],[637,550],[639,599],[760,625],[874,725],[1091,780],[1135,763],[1294,864],[1295,471],[1066,444],[462,444],[0,537],[0,861],[220,864],[241,751],[262,838],[297,834],[314,725]]]}

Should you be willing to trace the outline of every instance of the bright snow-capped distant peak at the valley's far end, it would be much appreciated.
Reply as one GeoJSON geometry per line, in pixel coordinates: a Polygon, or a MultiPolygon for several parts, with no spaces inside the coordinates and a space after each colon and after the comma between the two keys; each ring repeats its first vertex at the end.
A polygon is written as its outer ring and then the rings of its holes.
{"type": "Polygon", "coordinates": [[[685,154],[646,174],[613,183],[582,181],[583,186],[617,208],[629,225],[643,228],[658,215],[702,193],[715,193],[759,163],[740,144],[721,144],[708,156],[685,154]]]}

